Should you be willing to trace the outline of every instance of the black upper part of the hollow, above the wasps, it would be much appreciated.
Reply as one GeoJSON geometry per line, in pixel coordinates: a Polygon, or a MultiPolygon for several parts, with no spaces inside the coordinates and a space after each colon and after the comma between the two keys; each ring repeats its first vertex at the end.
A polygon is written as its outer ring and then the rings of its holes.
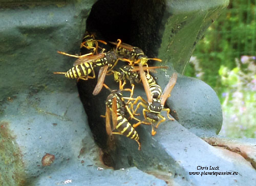
{"type": "Polygon", "coordinates": [[[156,57],[161,44],[159,29],[165,1],[97,1],[87,20],[87,30],[109,41],[141,48],[148,57],[156,57]]]}

